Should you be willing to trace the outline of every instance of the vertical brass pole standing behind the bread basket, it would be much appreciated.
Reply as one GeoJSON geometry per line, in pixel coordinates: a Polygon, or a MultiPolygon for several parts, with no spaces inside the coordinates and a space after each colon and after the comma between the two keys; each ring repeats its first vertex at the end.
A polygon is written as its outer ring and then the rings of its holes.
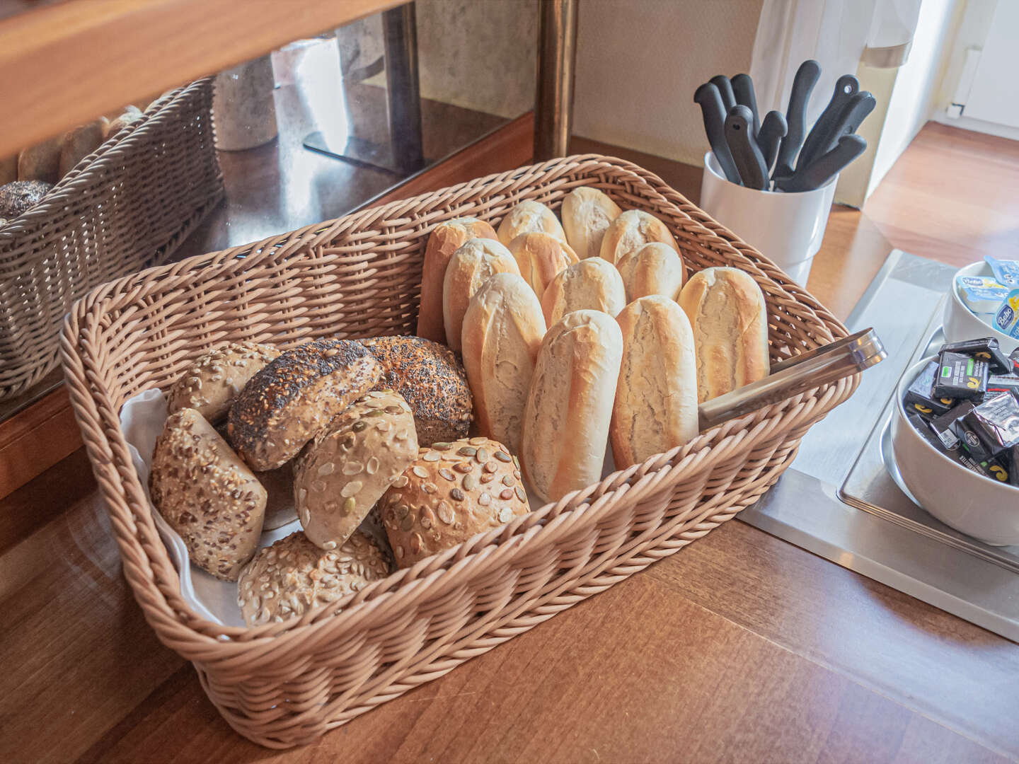
{"type": "Polygon", "coordinates": [[[539,0],[534,159],[566,156],[573,123],[577,0],[539,0]]]}

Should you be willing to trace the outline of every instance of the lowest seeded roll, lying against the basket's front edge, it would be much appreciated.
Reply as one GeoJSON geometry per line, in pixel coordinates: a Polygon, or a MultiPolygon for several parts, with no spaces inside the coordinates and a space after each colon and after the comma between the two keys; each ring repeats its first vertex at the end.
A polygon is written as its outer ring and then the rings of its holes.
{"type": "Polygon", "coordinates": [[[279,623],[388,575],[386,555],[360,531],[328,551],[298,531],[260,549],[245,567],[237,582],[237,605],[249,626],[279,623]]]}

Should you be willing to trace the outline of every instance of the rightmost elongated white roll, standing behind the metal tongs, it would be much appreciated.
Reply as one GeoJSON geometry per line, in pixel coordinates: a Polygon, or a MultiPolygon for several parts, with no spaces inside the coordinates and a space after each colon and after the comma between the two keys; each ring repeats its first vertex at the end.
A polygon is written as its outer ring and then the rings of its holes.
{"type": "Polygon", "coordinates": [[[705,268],[680,292],[697,350],[700,402],[768,375],[767,306],[749,274],[705,268]]]}

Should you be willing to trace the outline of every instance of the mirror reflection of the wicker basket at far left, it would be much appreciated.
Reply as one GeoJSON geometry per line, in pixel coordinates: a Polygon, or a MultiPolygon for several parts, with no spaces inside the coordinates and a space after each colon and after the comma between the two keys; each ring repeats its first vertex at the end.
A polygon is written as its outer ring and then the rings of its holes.
{"type": "Polygon", "coordinates": [[[166,94],[0,227],[0,399],[57,365],[75,299],[160,262],[222,197],[211,107],[212,79],[166,94]]]}

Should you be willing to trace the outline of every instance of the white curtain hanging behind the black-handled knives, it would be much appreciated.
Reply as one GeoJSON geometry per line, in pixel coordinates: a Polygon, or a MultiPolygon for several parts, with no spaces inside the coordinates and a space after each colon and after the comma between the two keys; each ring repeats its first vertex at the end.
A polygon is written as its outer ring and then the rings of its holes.
{"type": "Polygon", "coordinates": [[[861,59],[876,65],[904,63],[920,1],[764,0],[750,63],[761,113],[786,110],[796,69],[808,58],[821,65],[808,124],[824,109],[836,79],[855,74],[861,59]]]}

